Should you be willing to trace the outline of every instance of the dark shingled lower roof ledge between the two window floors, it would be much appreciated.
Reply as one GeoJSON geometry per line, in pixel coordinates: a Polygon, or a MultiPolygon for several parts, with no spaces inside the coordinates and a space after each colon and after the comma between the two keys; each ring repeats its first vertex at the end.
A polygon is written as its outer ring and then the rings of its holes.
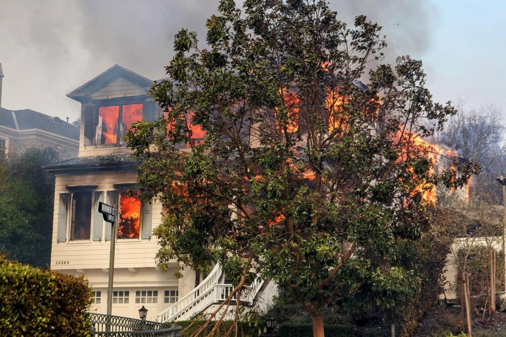
{"type": "Polygon", "coordinates": [[[43,166],[53,173],[78,173],[90,171],[133,171],[138,162],[130,153],[113,153],[101,156],[77,157],[43,166]]]}

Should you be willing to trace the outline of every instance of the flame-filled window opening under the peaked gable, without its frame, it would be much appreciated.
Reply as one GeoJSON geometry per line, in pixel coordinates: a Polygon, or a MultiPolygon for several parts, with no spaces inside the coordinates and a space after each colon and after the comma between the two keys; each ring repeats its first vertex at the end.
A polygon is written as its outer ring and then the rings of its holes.
{"type": "Polygon", "coordinates": [[[97,144],[119,145],[132,122],[142,120],[143,104],[101,106],[98,109],[97,144]]]}

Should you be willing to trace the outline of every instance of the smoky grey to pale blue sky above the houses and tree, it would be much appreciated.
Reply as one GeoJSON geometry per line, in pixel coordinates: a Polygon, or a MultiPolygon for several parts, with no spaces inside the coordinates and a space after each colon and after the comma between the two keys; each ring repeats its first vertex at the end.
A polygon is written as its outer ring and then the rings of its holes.
{"type": "MultiPolygon", "coordinates": [[[[237,1],[237,3],[240,3],[237,1]]],[[[2,107],[75,120],[65,95],[114,64],[150,79],[164,77],[174,34],[205,38],[218,0],[0,0],[2,107]]],[[[506,2],[484,0],[330,0],[341,20],[365,14],[383,26],[387,62],[410,55],[424,63],[440,102],[506,109],[506,2]]]]}

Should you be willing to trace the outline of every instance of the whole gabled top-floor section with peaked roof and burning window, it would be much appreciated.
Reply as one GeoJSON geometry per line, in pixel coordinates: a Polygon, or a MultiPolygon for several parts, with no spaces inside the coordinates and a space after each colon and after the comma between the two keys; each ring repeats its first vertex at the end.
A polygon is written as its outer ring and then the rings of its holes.
{"type": "Polygon", "coordinates": [[[130,151],[122,141],[130,124],[159,114],[146,96],[152,83],[116,64],[67,95],[81,103],[80,157],[130,151]]]}

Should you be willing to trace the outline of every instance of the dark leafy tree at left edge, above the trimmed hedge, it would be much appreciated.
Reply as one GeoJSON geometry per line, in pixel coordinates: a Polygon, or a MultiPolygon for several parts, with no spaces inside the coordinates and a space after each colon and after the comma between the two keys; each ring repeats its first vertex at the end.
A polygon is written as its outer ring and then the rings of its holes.
{"type": "Polygon", "coordinates": [[[9,259],[49,265],[55,185],[41,166],[57,160],[54,148],[31,147],[0,162],[0,250],[9,259]]]}

